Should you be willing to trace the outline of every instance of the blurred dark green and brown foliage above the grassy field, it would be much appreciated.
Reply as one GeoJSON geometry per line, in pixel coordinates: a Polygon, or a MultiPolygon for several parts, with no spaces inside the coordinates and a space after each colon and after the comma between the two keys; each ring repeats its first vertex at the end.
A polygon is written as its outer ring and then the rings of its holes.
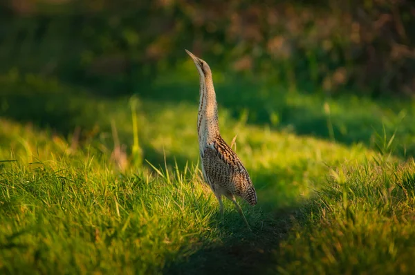
{"type": "MultiPolygon", "coordinates": [[[[0,70],[135,91],[184,48],[306,91],[413,94],[415,6],[405,0],[9,0],[0,70]],[[110,85],[111,84],[111,85],[110,85]]],[[[104,91],[101,91],[104,93],[104,91]]]]}

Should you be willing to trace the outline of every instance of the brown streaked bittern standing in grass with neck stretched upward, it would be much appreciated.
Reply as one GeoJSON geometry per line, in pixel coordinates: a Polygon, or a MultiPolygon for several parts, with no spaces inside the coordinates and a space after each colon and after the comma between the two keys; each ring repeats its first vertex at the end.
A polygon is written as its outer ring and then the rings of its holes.
{"type": "Polygon", "coordinates": [[[239,196],[250,205],[255,206],[257,205],[257,192],[237,153],[223,140],[219,132],[218,106],[210,66],[206,61],[190,53],[189,50],[185,49],[185,51],[193,59],[199,72],[200,99],[197,133],[203,178],[219,201],[222,222],[224,211],[222,196],[225,196],[234,203],[243,221],[250,229],[235,196],[239,196]]]}

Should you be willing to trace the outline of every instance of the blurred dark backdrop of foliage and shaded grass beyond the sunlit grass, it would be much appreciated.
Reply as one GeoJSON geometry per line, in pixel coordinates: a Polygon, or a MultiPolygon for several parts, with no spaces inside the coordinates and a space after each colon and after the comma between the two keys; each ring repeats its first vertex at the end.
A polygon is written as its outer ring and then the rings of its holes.
{"type": "Polygon", "coordinates": [[[385,128],[414,154],[410,1],[0,5],[0,115],[13,120],[84,136],[96,119],[82,97],[197,104],[187,48],[208,61],[233,117],[347,144],[373,144],[385,128]]]}

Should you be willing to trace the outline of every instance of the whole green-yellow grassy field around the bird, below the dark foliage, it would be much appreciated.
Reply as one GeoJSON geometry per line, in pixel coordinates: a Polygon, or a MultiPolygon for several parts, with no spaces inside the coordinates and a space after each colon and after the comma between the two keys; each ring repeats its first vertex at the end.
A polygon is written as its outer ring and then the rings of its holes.
{"type": "Polygon", "coordinates": [[[415,102],[240,79],[215,83],[252,232],[201,181],[190,62],[135,97],[1,75],[1,273],[412,273],[415,102]]]}

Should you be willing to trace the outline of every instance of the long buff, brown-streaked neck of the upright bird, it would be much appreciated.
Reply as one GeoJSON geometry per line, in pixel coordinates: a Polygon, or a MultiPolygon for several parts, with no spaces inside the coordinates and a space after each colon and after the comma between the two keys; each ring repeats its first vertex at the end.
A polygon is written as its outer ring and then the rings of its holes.
{"type": "Polygon", "coordinates": [[[212,144],[219,136],[218,108],[212,77],[201,79],[197,130],[201,146],[212,144]]]}

